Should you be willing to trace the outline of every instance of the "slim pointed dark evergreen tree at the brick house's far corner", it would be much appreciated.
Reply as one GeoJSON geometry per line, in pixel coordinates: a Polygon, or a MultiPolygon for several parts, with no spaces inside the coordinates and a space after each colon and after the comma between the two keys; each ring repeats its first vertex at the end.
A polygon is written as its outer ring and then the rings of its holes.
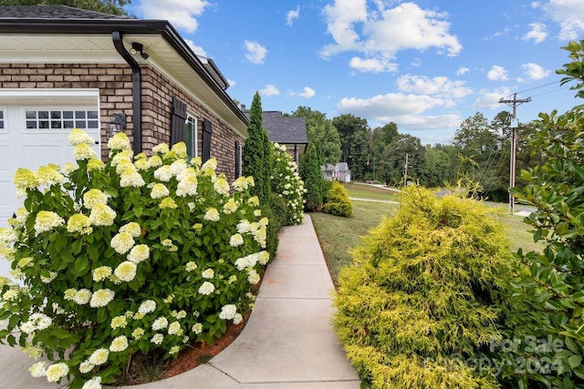
{"type": "Polygon", "coordinates": [[[243,175],[254,177],[255,186],[252,188],[252,193],[261,202],[268,203],[271,147],[263,125],[262,100],[257,92],[255,92],[252,107],[249,110],[247,134],[243,156],[243,175]]]}

